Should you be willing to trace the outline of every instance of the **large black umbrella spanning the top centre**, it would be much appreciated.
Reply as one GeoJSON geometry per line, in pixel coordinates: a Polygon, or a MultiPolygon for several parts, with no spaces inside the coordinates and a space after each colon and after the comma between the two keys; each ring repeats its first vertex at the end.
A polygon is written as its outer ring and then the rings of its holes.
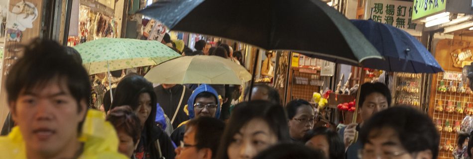
{"type": "Polygon", "coordinates": [[[355,66],[381,58],[345,16],[320,0],[159,0],[139,13],[171,30],[265,50],[291,50],[355,66]]]}

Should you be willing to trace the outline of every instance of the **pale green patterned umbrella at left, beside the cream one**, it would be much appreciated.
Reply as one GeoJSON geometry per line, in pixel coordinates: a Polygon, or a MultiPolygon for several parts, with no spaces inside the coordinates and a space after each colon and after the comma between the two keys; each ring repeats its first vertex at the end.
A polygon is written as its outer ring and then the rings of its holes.
{"type": "Polygon", "coordinates": [[[154,40],[101,38],[77,45],[74,49],[81,54],[89,75],[158,65],[181,56],[154,40]]]}

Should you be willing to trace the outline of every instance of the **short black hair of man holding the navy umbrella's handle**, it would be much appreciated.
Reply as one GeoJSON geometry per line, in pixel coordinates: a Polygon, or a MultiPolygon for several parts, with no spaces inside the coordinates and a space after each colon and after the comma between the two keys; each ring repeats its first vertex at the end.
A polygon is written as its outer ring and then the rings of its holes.
{"type": "Polygon", "coordinates": [[[374,82],[374,83],[364,83],[360,87],[359,93],[359,102],[358,107],[363,107],[363,102],[366,99],[366,96],[370,95],[371,93],[380,93],[386,97],[388,107],[391,106],[391,91],[389,88],[381,83],[381,82],[374,82]]]}

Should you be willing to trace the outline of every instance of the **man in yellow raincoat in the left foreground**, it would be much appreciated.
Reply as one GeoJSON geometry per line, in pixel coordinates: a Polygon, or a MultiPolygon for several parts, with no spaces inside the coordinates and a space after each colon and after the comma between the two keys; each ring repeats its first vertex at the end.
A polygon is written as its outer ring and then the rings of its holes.
{"type": "Polygon", "coordinates": [[[54,41],[35,39],[6,79],[17,126],[0,137],[3,159],[127,159],[100,112],[87,110],[86,70],[54,41]]]}

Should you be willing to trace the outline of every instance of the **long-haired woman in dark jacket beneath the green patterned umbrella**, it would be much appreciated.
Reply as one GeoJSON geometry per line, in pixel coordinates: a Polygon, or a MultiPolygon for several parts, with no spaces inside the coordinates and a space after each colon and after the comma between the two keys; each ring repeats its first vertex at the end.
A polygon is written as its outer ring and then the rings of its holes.
{"type": "Polygon", "coordinates": [[[156,95],[151,82],[141,76],[128,76],[118,83],[111,109],[129,105],[140,120],[141,137],[133,156],[136,159],[174,159],[171,139],[156,126],[156,95]]]}

